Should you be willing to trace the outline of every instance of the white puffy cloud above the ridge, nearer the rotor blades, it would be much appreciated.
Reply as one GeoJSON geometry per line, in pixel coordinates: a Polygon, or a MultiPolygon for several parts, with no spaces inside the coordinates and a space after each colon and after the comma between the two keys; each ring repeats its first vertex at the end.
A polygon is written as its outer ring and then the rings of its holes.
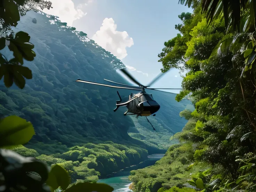
{"type": "Polygon", "coordinates": [[[113,18],[105,18],[101,28],[91,39],[119,59],[127,56],[126,47],[134,45],[133,38],[126,31],[117,31],[113,18]]]}

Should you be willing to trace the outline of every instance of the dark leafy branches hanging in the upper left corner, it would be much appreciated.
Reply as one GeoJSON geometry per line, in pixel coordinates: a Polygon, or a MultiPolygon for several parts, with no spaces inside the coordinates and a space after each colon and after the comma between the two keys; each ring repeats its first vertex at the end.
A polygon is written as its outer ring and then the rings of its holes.
{"type": "Polygon", "coordinates": [[[11,27],[15,27],[20,15],[29,10],[50,9],[51,2],[47,0],[3,0],[0,4],[0,50],[8,46],[13,51],[14,58],[9,61],[0,53],[0,79],[4,78],[6,87],[13,82],[21,89],[25,87],[25,78],[31,79],[32,72],[23,66],[23,59],[33,61],[34,45],[29,42],[29,34],[20,31],[14,35],[11,27]]]}

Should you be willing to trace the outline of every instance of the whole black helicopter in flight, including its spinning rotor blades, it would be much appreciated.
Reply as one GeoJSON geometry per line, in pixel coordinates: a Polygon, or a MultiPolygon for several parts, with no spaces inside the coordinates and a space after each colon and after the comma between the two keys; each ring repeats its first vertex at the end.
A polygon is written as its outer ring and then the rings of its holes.
{"type": "MultiPolygon", "coordinates": [[[[138,86],[117,83],[117,82],[110,81],[107,79],[104,79],[104,80],[115,83],[115,84],[123,85],[125,87],[105,85],[102,83],[84,81],[84,80],[80,80],[80,79],[78,79],[76,81],[83,82],[83,83],[95,84],[95,85],[101,85],[101,86],[107,86],[107,87],[113,87],[113,88],[120,88],[120,89],[140,90],[136,94],[131,93],[129,95],[129,100],[124,103],[122,103],[122,98],[120,97],[120,95],[117,91],[117,94],[118,94],[120,100],[116,102],[116,107],[114,109],[114,112],[115,112],[118,110],[119,107],[126,106],[128,110],[124,113],[124,115],[137,115],[136,116],[137,118],[139,116],[149,116],[149,115],[155,116],[155,113],[160,109],[160,105],[153,99],[152,94],[146,93],[145,89],[151,89],[151,90],[156,90],[156,91],[161,91],[161,90],[157,90],[157,89],[175,89],[175,88],[148,88],[155,81],[157,81],[164,73],[160,73],[147,86],[144,86],[141,83],[139,83],[137,80],[135,80],[134,77],[131,76],[131,74],[127,71],[126,67],[120,69],[120,71],[123,72],[131,81],[136,83],[138,86]],[[129,114],[127,114],[127,113],[129,113],[129,114]]],[[[163,91],[163,92],[166,92],[166,91],[163,91]]],[[[170,92],[166,92],[166,93],[170,93],[170,92]]]]}

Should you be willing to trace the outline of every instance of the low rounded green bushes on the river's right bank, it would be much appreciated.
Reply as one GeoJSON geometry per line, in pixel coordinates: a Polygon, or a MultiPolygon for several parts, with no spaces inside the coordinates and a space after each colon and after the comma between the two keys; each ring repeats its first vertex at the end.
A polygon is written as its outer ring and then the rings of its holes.
{"type": "Polygon", "coordinates": [[[198,164],[188,170],[187,167],[193,162],[193,154],[192,143],[170,146],[165,156],[155,165],[130,172],[129,178],[135,185],[133,191],[158,191],[162,186],[169,189],[186,183],[191,173],[208,167],[207,164],[198,164]]]}

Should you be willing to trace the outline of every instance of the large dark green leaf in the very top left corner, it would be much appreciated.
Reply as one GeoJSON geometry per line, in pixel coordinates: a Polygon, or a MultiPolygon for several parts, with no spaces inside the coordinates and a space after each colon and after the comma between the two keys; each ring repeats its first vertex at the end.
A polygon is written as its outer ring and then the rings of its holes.
{"type": "Polygon", "coordinates": [[[2,6],[5,9],[4,20],[11,26],[16,26],[20,19],[18,6],[13,0],[2,0],[2,6]]]}

